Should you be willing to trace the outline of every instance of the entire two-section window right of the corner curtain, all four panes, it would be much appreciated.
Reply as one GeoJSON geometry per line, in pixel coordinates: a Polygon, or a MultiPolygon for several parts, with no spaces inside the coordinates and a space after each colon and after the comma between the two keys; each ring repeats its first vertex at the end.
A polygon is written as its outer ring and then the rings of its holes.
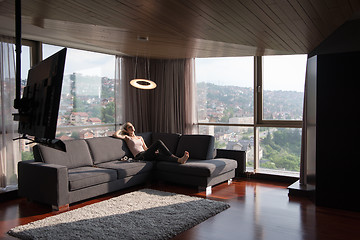
{"type": "Polygon", "coordinates": [[[306,55],[196,59],[199,132],[247,170],[297,176],[306,55]]]}

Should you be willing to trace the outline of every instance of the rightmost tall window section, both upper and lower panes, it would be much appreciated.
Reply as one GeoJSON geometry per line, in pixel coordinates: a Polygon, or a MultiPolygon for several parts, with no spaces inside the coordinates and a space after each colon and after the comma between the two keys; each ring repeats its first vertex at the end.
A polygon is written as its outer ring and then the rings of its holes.
{"type": "Polygon", "coordinates": [[[262,57],[258,79],[258,170],[300,171],[301,127],[307,55],[262,57]]]}

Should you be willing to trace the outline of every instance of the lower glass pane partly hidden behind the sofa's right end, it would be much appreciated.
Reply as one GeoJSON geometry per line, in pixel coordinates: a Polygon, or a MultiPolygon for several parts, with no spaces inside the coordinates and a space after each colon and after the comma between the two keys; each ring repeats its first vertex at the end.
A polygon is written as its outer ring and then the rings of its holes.
{"type": "Polygon", "coordinates": [[[253,127],[199,126],[199,134],[207,134],[214,136],[216,149],[245,151],[247,170],[248,171],[253,170],[254,168],[254,128],[253,127]]]}

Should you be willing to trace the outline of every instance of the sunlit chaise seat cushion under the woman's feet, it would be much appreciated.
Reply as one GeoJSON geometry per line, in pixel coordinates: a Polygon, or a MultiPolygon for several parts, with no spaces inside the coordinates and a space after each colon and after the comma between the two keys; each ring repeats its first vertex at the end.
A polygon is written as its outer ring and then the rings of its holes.
{"type": "Polygon", "coordinates": [[[237,162],[230,159],[192,160],[186,164],[172,162],[158,162],[157,170],[172,172],[183,175],[195,175],[201,177],[213,177],[229,172],[237,167],[237,162]]]}

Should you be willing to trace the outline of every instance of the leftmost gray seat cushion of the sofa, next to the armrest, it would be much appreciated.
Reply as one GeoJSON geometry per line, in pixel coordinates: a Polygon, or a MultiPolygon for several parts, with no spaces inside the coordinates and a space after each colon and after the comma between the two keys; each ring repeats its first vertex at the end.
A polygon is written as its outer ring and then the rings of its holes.
{"type": "Polygon", "coordinates": [[[107,183],[117,178],[116,170],[96,167],[72,168],[68,174],[70,191],[107,183]]]}

